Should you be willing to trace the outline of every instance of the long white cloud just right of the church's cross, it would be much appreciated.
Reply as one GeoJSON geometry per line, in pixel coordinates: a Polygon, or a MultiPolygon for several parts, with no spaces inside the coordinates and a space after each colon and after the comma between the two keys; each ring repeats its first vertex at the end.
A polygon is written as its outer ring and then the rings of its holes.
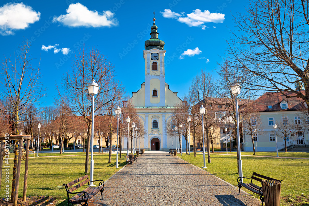
{"type": "MultiPolygon", "coordinates": [[[[205,30],[207,26],[205,23],[223,23],[225,19],[225,15],[221,13],[210,13],[210,11],[205,10],[201,11],[200,9],[193,10],[192,13],[187,14],[186,17],[182,17],[185,15],[185,12],[181,12],[181,15],[171,11],[170,9],[164,9],[163,14],[165,18],[177,19],[177,21],[181,23],[187,24],[189,27],[201,27],[201,29],[205,30]]],[[[207,27],[208,28],[208,27],[207,27]]]]}

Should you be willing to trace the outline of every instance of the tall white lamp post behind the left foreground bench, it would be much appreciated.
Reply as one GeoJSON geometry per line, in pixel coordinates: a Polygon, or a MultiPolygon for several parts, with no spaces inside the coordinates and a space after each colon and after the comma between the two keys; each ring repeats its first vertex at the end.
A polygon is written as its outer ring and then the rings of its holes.
{"type": "Polygon", "coordinates": [[[95,96],[99,92],[99,85],[95,83],[95,80],[92,79],[91,83],[88,84],[88,93],[92,95],[92,105],[91,105],[91,161],[90,161],[90,186],[95,186],[93,184],[93,129],[94,129],[94,104],[95,104],[95,96]]]}

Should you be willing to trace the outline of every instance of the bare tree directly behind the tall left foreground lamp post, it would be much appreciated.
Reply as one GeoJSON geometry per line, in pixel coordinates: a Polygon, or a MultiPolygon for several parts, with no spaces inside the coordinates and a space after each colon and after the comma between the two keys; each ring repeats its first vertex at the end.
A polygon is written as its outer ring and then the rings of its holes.
{"type": "MultiPolygon", "coordinates": [[[[71,71],[62,78],[62,87],[67,91],[71,114],[81,119],[87,132],[87,149],[85,159],[85,173],[88,173],[90,137],[91,137],[91,102],[92,96],[88,94],[87,86],[92,79],[100,86],[98,94],[95,95],[94,118],[100,116],[98,110],[112,97],[106,98],[106,93],[111,89],[111,81],[114,77],[114,66],[102,55],[98,49],[87,51],[85,48],[76,53],[71,71]]],[[[60,93],[60,92],[59,92],[60,93]]],[[[60,95],[62,98],[63,96],[60,95]]]]}

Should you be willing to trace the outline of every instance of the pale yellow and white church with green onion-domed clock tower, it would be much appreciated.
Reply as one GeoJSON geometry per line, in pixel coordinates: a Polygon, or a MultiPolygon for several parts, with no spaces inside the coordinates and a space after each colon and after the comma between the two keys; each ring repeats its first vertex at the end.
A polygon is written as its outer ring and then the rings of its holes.
{"type": "MultiPolygon", "coordinates": [[[[175,105],[182,101],[165,82],[165,43],[158,38],[155,18],[153,21],[150,39],[145,41],[145,82],[141,84],[140,90],[132,92],[133,95],[128,101],[133,103],[138,118],[145,127],[145,137],[140,140],[141,149],[169,151],[169,148],[172,148],[172,137],[170,132],[166,131],[166,123],[172,118],[175,105]]],[[[185,148],[184,138],[182,142],[185,148]]],[[[175,135],[173,148],[176,148],[175,135]]]]}

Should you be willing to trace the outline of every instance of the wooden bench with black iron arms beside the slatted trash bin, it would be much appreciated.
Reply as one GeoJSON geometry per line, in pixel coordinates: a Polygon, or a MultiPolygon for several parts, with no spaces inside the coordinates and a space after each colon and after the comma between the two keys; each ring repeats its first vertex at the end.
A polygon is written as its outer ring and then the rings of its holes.
{"type": "Polygon", "coordinates": [[[240,188],[245,187],[246,189],[260,195],[260,200],[262,201],[262,206],[263,206],[264,197],[263,197],[262,187],[259,187],[256,184],[252,183],[253,179],[262,183],[263,179],[261,179],[261,178],[267,179],[267,180],[276,180],[276,181],[279,181],[279,182],[282,181],[282,180],[273,179],[273,178],[270,178],[270,177],[267,177],[267,176],[264,176],[264,175],[261,175],[261,174],[257,174],[256,172],[253,172],[251,177],[239,177],[239,178],[237,178],[237,182],[238,182],[237,187],[239,187],[238,195],[240,193],[240,188]],[[251,179],[251,182],[250,183],[244,183],[241,178],[251,179]]]}

